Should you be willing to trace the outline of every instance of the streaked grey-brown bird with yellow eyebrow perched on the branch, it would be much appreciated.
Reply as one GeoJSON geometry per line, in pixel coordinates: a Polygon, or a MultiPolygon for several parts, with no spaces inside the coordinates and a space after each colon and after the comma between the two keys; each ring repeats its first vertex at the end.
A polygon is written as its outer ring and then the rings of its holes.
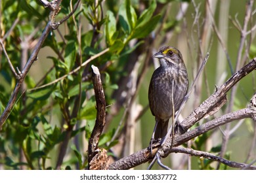
{"type": "Polygon", "coordinates": [[[160,60],[160,67],[154,71],[150,80],[148,101],[156,118],[154,139],[163,139],[167,133],[169,119],[173,116],[173,105],[175,112],[179,110],[188,92],[188,73],[177,48],[163,46],[153,57],[160,60]]]}

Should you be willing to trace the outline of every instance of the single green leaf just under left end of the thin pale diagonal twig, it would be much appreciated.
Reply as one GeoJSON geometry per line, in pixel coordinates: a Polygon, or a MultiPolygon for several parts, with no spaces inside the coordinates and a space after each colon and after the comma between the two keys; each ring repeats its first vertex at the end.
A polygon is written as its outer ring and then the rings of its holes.
{"type": "Polygon", "coordinates": [[[51,93],[53,93],[54,87],[55,87],[55,85],[54,86],[47,86],[47,87],[41,88],[39,90],[28,92],[27,97],[30,97],[30,98],[35,99],[35,100],[48,99],[50,97],[51,93]]]}

